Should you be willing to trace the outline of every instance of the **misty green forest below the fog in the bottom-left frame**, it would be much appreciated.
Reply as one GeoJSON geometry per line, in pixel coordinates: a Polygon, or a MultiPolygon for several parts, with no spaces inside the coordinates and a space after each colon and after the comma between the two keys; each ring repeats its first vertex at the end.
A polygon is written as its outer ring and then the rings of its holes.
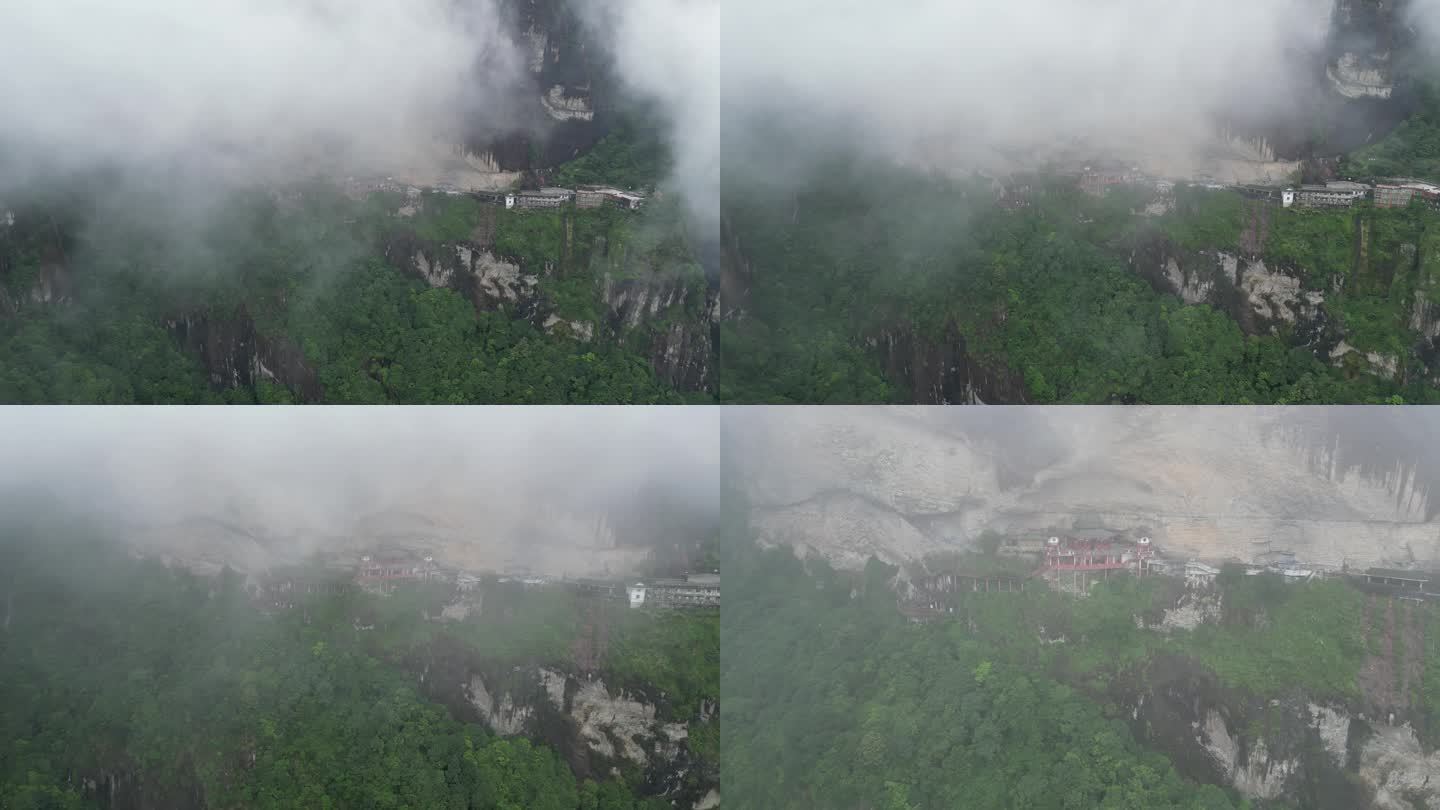
{"type": "MultiPolygon", "coordinates": [[[[71,520],[6,523],[0,809],[102,807],[85,785],[107,778],[177,810],[670,807],[639,796],[638,773],[576,780],[559,751],[452,719],[406,669],[446,638],[497,670],[557,662],[579,628],[564,598],[500,594],[501,617],[526,618],[444,630],[422,618],[435,597],[423,589],[271,615],[229,569],[204,578],[137,559],[71,520]]],[[[626,618],[606,677],[667,692],[680,719],[719,696],[719,617],[626,618]]],[[[694,778],[714,778],[713,726],[697,728],[694,778]]]]}

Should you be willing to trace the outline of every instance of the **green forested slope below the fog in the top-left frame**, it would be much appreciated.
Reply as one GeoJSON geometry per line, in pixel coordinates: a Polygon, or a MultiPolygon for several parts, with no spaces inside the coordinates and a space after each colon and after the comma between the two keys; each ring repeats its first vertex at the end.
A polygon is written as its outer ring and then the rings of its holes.
{"type": "Polygon", "coordinates": [[[173,213],[153,212],[177,203],[158,193],[105,206],[55,193],[0,228],[0,401],[713,402],[651,368],[654,339],[677,321],[708,329],[678,200],[642,212],[505,210],[426,195],[418,213],[396,216],[405,203],[315,183],[289,197],[207,200],[194,222],[167,222],[173,213]],[[396,267],[416,245],[433,257],[461,241],[492,245],[539,277],[539,306],[590,324],[593,340],[540,329],[518,303],[477,308],[396,267]],[[612,331],[603,275],[688,295],[683,308],[612,331]],[[35,300],[42,290],[66,301],[35,300]],[[200,346],[183,344],[181,324],[200,346]],[[242,379],[233,366],[249,376],[252,355],[279,376],[242,379]]]}

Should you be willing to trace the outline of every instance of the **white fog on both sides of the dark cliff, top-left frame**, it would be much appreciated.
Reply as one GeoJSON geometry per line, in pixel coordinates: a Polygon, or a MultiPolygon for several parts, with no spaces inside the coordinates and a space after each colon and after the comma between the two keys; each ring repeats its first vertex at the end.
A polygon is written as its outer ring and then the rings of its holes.
{"type": "MultiPolygon", "coordinates": [[[[719,3],[576,7],[625,92],[661,111],[677,147],[668,184],[708,222],[719,3]]],[[[0,199],[96,167],[179,173],[192,193],[312,174],[464,173],[452,144],[530,121],[523,94],[537,88],[510,12],[498,0],[7,3],[0,199]]]]}

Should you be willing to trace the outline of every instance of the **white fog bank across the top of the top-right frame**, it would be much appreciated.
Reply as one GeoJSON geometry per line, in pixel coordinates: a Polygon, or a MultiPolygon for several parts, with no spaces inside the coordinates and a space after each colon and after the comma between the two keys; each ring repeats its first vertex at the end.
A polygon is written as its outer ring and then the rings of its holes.
{"type": "Polygon", "coordinates": [[[1077,141],[1192,170],[1224,120],[1323,81],[1332,1],[734,0],[727,182],[802,180],[776,135],[956,172],[1038,167],[1077,141]]]}

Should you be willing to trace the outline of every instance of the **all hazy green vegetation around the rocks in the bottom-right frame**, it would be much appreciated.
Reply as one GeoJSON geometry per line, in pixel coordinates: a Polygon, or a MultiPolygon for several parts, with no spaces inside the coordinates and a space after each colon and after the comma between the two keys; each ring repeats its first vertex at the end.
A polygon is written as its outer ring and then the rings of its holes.
{"type": "MultiPolygon", "coordinates": [[[[1254,712],[1243,721],[1251,734],[1283,736],[1263,706],[1365,706],[1362,664],[1388,654],[1378,633],[1365,633],[1367,597],[1354,587],[1287,585],[1240,566],[1217,581],[1220,615],[1188,631],[1138,624],[1175,604],[1184,585],[1165,577],[1120,577],[1087,598],[956,594],[952,615],[913,624],[897,610],[894,566],[871,559],[855,574],[801,562],[786,548],[762,551],[743,519],[730,520],[726,572],[737,592],[721,627],[721,760],[733,809],[1248,807],[1228,788],[1179,777],[1135,739],[1135,695],[1179,667],[1194,677],[1169,689],[1212,679],[1233,706],[1260,706],[1244,709],[1254,712]]],[[[1413,722],[1433,745],[1440,644],[1428,638],[1440,614],[1427,608],[1423,621],[1413,722]]],[[[1349,777],[1316,767],[1295,788],[1299,807],[1365,806],[1349,777]]]]}

